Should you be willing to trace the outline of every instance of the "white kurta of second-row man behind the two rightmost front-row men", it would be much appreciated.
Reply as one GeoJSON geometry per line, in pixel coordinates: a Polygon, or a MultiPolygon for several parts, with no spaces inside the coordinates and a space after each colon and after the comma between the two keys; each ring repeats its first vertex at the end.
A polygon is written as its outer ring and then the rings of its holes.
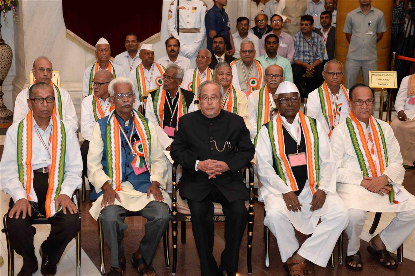
{"type": "MultiPolygon", "coordinates": [[[[332,107],[336,104],[336,97],[332,95],[330,92],[330,88],[327,87],[329,90],[330,96],[330,102],[332,103],[332,107]]],[[[349,104],[347,103],[347,98],[344,96],[344,93],[342,92],[342,88],[339,89],[338,98],[337,98],[337,108],[336,110],[336,118],[333,118],[333,124],[334,126],[338,126],[340,123],[344,122],[346,120],[347,116],[349,116],[350,109],[349,104]]],[[[334,117],[334,109],[332,109],[333,117],[334,117]]],[[[318,93],[318,88],[313,90],[310,94],[308,94],[307,98],[307,116],[310,116],[312,118],[317,119],[320,121],[320,123],[325,126],[325,131],[330,133],[330,128],[327,124],[327,121],[323,115],[323,111],[321,109],[321,102],[320,102],[320,95],[318,93]]]]}

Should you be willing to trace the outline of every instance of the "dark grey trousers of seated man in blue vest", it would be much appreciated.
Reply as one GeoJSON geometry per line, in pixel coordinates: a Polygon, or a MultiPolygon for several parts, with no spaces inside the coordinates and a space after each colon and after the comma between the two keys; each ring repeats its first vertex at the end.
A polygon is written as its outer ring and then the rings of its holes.
{"type": "MultiPolygon", "coordinates": [[[[127,224],[124,223],[125,215],[128,212],[122,206],[110,205],[101,210],[98,219],[102,222],[105,240],[111,250],[111,266],[120,267],[120,260],[124,254],[122,239],[127,224]]],[[[168,223],[173,217],[168,211],[168,205],[164,202],[151,201],[146,207],[139,211],[140,215],[147,219],[144,225],[144,237],[142,238],[139,250],[147,264],[151,263],[161,237],[168,228],[168,223]]]]}

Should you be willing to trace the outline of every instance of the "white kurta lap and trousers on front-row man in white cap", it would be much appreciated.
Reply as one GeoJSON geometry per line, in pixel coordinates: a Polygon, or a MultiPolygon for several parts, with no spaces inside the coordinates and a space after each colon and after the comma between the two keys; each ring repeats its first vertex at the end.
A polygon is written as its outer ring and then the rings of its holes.
{"type": "Polygon", "coordinates": [[[310,211],[312,194],[308,188],[308,180],[298,196],[303,206],[301,211],[293,212],[287,209],[282,194],[263,194],[266,225],[278,243],[281,261],[286,262],[299,248],[295,238],[294,228],[303,234],[311,234],[298,250],[298,254],[319,266],[327,266],[333,248],[340,234],[349,221],[347,207],[337,194],[328,193],[322,208],[310,211]],[[318,221],[321,219],[321,223],[318,221]]]}

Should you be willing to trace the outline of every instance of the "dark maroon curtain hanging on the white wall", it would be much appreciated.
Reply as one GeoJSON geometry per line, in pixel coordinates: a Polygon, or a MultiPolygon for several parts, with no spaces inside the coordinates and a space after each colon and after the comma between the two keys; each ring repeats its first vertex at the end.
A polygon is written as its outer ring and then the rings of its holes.
{"type": "Polygon", "coordinates": [[[125,35],[138,34],[143,41],[157,34],[161,27],[162,0],[114,2],[63,0],[66,29],[95,46],[104,37],[111,46],[111,56],[125,51],[125,35]]]}

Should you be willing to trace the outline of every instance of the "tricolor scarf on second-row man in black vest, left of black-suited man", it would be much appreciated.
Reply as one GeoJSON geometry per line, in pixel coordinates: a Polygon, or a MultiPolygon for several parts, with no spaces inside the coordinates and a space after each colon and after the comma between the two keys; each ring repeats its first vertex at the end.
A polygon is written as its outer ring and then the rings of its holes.
{"type": "MultiPolygon", "coordinates": [[[[178,130],[180,117],[187,113],[186,100],[184,99],[184,95],[180,87],[178,87],[178,94],[179,94],[179,99],[178,99],[178,107],[177,107],[176,130],[178,130]]],[[[159,126],[161,126],[161,128],[163,128],[163,122],[164,122],[165,102],[166,102],[166,90],[164,90],[164,88],[162,87],[159,87],[159,89],[157,89],[156,91],[156,94],[154,94],[153,108],[154,108],[154,114],[156,115],[157,122],[159,123],[159,126]]],[[[173,116],[173,114],[171,115],[173,116]]]]}

